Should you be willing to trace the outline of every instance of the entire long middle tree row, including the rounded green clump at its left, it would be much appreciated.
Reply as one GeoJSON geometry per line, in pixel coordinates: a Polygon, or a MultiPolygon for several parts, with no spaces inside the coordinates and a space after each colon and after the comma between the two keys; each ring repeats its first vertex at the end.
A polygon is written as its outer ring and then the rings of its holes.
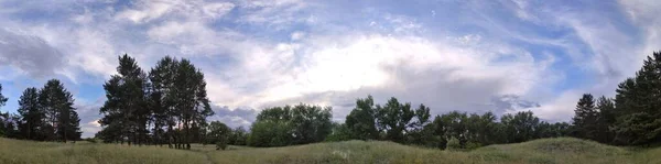
{"type": "Polygon", "coordinates": [[[285,146],[322,141],[381,140],[437,149],[474,149],[568,135],[568,123],[540,121],[530,111],[497,117],[453,111],[432,118],[430,108],[391,98],[376,105],[368,96],[356,101],[345,123],[333,122],[330,107],[297,105],[262,110],[252,123],[247,145],[285,146]]]}

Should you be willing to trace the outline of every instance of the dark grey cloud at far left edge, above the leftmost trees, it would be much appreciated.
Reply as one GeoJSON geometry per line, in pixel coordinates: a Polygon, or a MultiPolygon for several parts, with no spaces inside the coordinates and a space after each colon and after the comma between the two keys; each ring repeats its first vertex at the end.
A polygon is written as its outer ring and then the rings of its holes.
{"type": "Polygon", "coordinates": [[[0,64],[14,66],[33,77],[43,77],[62,68],[64,56],[39,36],[0,29],[0,64]]]}

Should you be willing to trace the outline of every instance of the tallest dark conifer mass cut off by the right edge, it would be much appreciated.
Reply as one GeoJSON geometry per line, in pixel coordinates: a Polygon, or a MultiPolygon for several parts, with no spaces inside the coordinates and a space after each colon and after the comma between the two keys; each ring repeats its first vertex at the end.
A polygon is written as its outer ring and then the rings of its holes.
{"type": "Polygon", "coordinates": [[[614,142],[641,145],[661,142],[661,52],[643,61],[633,78],[618,85],[614,142]]]}

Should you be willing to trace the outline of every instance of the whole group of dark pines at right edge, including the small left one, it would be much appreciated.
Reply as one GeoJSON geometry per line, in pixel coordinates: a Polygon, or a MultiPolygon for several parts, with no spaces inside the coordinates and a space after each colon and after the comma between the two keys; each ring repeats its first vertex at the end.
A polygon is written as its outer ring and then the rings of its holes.
{"type": "Polygon", "coordinates": [[[572,135],[616,145],[661,143],[661,52],[620,83],[615,99],[590,94],[578,100],[572,135]]]}

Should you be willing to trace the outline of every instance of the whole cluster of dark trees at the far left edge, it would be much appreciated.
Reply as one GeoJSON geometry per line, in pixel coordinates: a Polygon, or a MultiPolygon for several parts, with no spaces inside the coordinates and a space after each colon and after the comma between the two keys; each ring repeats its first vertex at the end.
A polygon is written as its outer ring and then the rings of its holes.
{"type": "MultiPolygon", "coordinates": [[[[2,86],[0,85],[0,91],[2,86]]],[[[0,107],[8,98],[0,94],[0,107]]],[[[0,112],[0,136],[35,141],[80,140],[80,119],[73,95],[57,79],[28,88],[19,99],[18,114],[0,112]]]]}

